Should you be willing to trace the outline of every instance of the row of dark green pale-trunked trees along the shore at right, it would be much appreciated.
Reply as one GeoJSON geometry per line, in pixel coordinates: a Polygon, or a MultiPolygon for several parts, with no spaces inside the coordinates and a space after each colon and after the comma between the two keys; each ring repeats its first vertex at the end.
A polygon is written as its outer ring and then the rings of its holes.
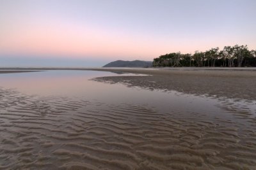
{"type": "Polygon", "coordinates": [[[211,48],[205,52],[166,53],[154,59],[154,67],[256,67],[256,50],[247,45],[211,48]]]}

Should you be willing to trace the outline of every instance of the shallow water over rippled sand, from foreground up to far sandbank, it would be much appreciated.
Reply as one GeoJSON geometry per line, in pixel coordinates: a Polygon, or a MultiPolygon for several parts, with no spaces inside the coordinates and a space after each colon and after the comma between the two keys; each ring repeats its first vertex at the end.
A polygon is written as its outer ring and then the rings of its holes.
{"type": "Polygon", "coordinates": [[[92,80],[118,75],[0,74],[0,169],[255,169],[255,101],[92,80]]]}

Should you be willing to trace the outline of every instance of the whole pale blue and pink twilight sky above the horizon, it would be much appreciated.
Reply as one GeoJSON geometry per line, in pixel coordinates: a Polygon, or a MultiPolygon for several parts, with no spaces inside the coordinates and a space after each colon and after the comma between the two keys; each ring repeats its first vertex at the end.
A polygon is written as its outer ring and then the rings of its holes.
{"type": "Polygon", "coordinates": [[[0,0],[0,67],[256,49],[255,0],[0,0]]]}

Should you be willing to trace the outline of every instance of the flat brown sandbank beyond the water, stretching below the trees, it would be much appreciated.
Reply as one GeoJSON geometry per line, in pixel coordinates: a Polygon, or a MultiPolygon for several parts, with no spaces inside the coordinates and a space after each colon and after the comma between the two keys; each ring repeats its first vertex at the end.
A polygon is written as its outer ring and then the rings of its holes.
{"type": "Polygon", "coordinates": [[[0,68],[0,73],[39,70],[118,71],[145,76],[108,76],[96,81],[125,83],[150,90],[177,90],[188,94],[256,100],[256,67],[164,67],[164,68],[0,68]],[[15,71],[12,71],[15,69],[15,71]],[[30,70],[28,70],[30,69],[30,70]]]}

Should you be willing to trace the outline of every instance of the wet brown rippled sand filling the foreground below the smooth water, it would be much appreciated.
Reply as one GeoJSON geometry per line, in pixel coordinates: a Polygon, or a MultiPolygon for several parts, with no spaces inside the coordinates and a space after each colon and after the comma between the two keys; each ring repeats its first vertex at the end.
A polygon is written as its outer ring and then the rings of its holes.
{"type": "Polygon", "coordinates": [[[255,169],[253,127],[194,115],[1,89],[0,169],[255,169]]]}

